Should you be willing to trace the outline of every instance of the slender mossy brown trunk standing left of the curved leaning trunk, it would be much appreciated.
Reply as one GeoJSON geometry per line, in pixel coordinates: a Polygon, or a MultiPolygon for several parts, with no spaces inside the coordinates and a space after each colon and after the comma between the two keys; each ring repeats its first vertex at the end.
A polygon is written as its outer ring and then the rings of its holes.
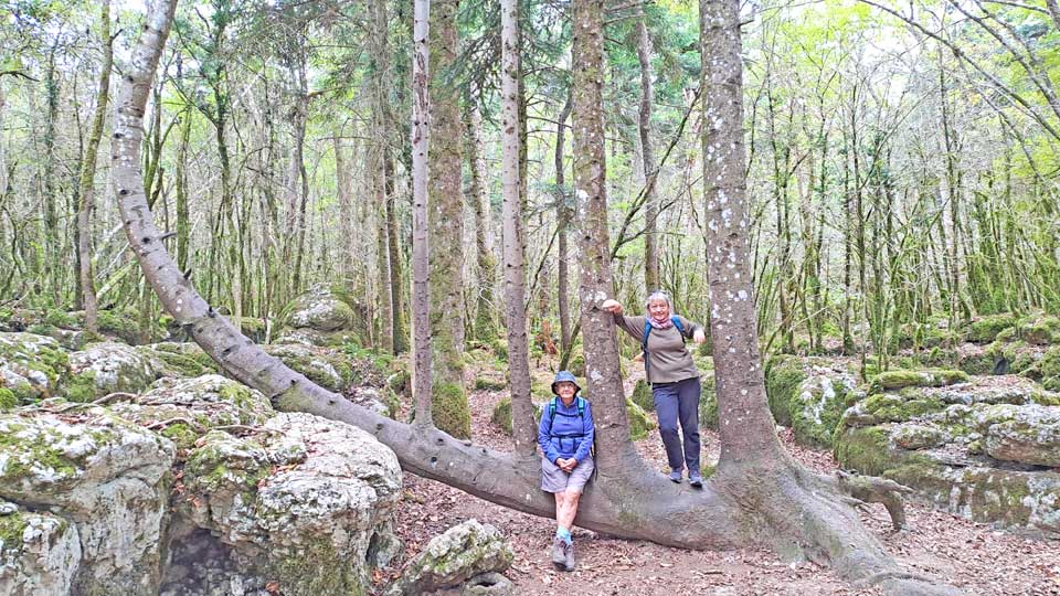
{"type": "Polygon", "coordinates": [[[99,87],[96,92],[96,108],[92,119],[92,132],[85,146],[81,163],[81,205],[77,210],[77,262],[81,278],[81,301],[85,309],[85,330],[95,333],[98,329],[96,287],[92,275],[92,211],[95,203],[96,153],[103,138],[103,125],[107,114],[107,97],[110,89],[110,63],[114,60],[114,40],[110,38],[110,0],[103,0],[99,10],[99,40],[103,42],[103,63],[99,65],[99,87]]]}

